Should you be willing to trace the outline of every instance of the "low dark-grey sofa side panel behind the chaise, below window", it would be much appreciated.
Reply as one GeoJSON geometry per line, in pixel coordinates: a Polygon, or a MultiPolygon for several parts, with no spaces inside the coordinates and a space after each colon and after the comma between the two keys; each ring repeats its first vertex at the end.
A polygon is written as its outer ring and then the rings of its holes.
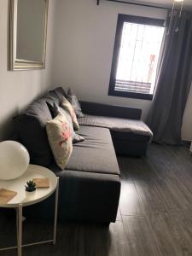
{"type": "Polygon", "coordinates": [[[123,119],[141,119],[142,109],[107,105],[96,102],[80,102],[83,113],[123,119]]]}

